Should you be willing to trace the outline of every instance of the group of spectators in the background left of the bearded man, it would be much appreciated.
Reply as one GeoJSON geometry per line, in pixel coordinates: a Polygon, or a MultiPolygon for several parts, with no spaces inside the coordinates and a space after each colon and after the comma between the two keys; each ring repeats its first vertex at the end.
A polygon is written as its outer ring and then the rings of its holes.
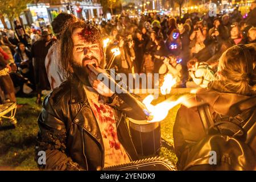
{"type": "Polygon", "coordinates": [[[18,20],[14,21],[14,30],[1,30],[1,103],[15,102],[15,95],[23,97],[34,93],[38,94],[36,102],[42,103],[42,89],[51,89],[42,64],[55,41],[51,28],[32,24],[25,30],[18,20]]]}

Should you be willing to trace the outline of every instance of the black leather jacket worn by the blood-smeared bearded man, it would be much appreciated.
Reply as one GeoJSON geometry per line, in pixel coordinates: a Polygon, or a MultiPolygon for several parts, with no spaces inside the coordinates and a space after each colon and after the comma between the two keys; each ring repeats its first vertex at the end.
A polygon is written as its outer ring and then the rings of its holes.
{"type": "MultiPolygon", "coordinates": [[[[42,113],[38,118],[40,130],[35,159],[38,162],[38,152],[46,151],[46,165],[39,165],[40,168],[96,170],[104,167],[104,144],[100,128],[82,84],[77,80],[71,78],[63,82],[44,99],[42,113]]],[[[119,142],[130,160],[137,160],[137,152],[127,128],[126,115],[133,119],[141,118],[138,115],[135,117],[136,111],[118,96],[110,102],[114,107],[119,142]]]]}

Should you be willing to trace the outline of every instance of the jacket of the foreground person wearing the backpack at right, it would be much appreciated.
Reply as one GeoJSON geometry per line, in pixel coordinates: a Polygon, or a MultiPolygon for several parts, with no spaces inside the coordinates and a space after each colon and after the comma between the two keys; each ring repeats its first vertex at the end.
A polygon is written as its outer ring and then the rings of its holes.
{"type": "MultiPolygon", "coordinates": [[[[251,100],[249,96],[242,96],[235,93],[221,93],[210,89],[198,90],[196,101],[209,104],[213,118],[216,114],[236,117],[236,115],[241,114],[245,110],[255,110],[255,99],[251,100]],[[247,101],[251,101],[250,104],[247,101]]],[[[195,102],[189,100],[188,105],[189,108],[182,105],[177,111],[174,124],[174,147],[178,159],[180,159],[184,148],[189,143],[198,142],[205,137],[197,107],[193,106],[195,102]]],[[[251,139],[250,146],[256,154],[256,136],[251,139]]]]}

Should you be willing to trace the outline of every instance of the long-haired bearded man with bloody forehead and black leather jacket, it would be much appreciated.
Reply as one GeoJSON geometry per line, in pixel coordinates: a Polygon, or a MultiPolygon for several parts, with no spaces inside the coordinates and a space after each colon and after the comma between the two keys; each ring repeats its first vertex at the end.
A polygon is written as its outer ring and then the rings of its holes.
{"type": "Polygon", "coordinates": [[[97,80],[105,65],[100,32],[91,24],[72,22],[60,41],[67,81],[44,100],[36,162],[44,169],[97,170],[137,159],[126,116],[142,118],[97,80]],[[40,163],[39,151],[46,152],[46,163],[40,163]]]}

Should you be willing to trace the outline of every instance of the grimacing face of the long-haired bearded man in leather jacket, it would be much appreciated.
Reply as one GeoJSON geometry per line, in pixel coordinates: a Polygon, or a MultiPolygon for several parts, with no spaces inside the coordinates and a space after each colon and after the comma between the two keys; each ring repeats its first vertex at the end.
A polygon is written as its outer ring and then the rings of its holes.
{"type": "Polygon", "coordinates": [[[80,34],[82,28],[76,28],[72,33],[73,40],[73,62],[76,66],[85,69],[86,73],[89,73],[89,69],[86,65],[94,65],[98,67],[103,60],[99,43],[85,42],[81,38],[80,34]]]}

